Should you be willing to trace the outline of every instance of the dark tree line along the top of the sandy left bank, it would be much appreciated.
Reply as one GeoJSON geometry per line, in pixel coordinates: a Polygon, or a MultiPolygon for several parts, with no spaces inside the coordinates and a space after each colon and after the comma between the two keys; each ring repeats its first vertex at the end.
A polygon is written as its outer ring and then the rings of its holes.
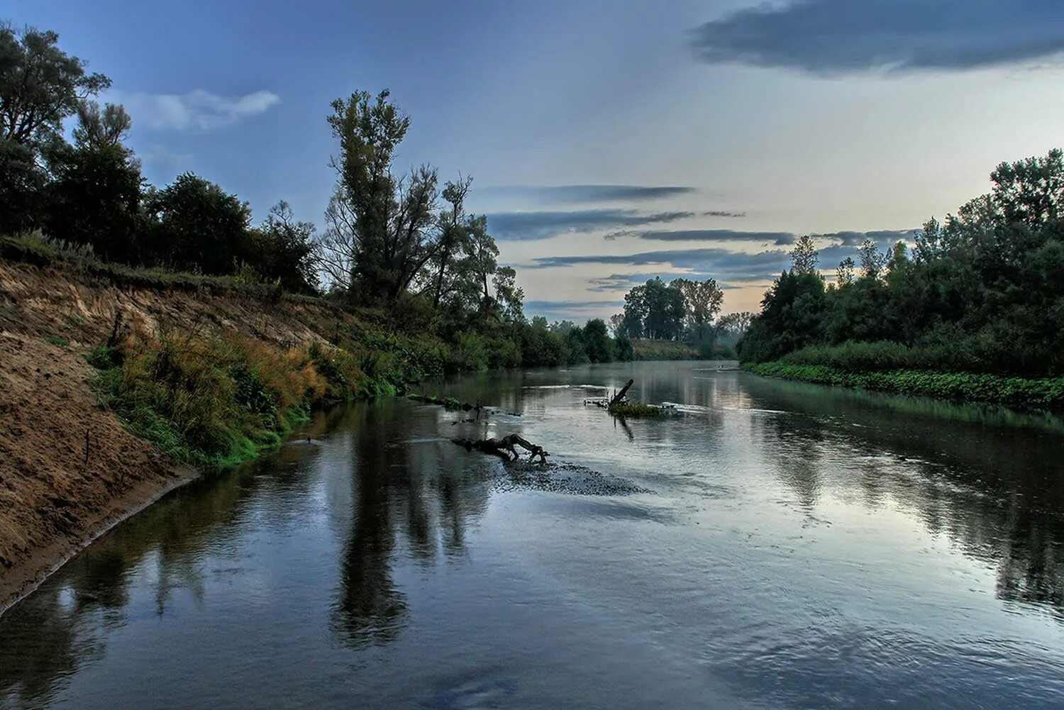
{"type": "Polygon", "coordinates": [[[327,297],[442,339],[455,368],[632,357],[602,319],[526,318],[515,270],[498,263],[486,218],[467,210],[471,180],[395,170],[411,119],[388,92],[331,104],[336,183],[319,233],[284,201],[253,225],[248,202],[193,172],[148,184],[126,145],[132,117],[96,100],[110,85],[54,32],[0,26],[0,233],[327,297]]]}

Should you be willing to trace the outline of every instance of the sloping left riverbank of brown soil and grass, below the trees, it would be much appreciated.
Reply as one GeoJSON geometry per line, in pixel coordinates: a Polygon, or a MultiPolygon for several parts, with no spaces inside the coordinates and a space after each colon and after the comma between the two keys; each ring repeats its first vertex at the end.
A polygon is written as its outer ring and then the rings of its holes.
{"type": "Polygon", "coordinates": [[[443,359],[312,299],[0,261],[0,613],[118,522],[443,359]]]}

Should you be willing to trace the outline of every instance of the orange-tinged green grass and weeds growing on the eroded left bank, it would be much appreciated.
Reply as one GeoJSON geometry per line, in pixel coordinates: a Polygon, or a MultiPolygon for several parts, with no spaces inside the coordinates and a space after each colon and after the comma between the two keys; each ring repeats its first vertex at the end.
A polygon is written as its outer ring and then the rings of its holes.
{"type": "MultiPolygon", "coordinates": [[[[392,394],[364,359],[340,348],[164,333],[93,348],[101,403],[173,459],[225,468],[277,448],[312,408],[392,394]]],[[[379,360],[375,362],[379,363],[379,360]]]]}

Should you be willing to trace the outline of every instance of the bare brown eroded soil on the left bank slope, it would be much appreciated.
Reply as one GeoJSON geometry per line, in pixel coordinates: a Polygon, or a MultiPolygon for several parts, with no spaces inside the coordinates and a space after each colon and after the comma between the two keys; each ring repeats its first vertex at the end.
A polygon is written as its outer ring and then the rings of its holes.
{"type": "Polygon", "coordinates": [[[84,354],[122,321],[146,332],[321,340],[334,315],[209,290],[119,288],[0,261],[0,613],[96,536],[190,480],[97,406],[84,354]]]}

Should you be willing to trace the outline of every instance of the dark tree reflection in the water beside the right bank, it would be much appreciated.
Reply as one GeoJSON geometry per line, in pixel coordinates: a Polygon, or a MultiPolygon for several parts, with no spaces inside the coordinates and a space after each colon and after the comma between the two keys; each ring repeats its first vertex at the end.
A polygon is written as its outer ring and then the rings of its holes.
{"type": "Polygon", "coordinates": [[[1060,419],[766,379],[744,386],[785,412],[759,437],[802,509],[854,485],[869,508],[894,500],[993,565],[998,598],[1064,622],[1060,419]]]}

